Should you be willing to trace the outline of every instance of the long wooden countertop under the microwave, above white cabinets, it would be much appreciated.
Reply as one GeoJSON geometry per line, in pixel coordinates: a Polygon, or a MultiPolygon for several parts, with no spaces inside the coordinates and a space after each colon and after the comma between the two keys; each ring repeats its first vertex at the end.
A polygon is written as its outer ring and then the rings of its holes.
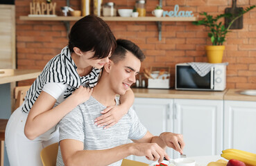
{"type": "Polygon", "coordinates": [[[174,89],[136,89],[136,98],[176,98],[201,100],[243,100],[256,101],[256,96],[241,95],[242,89],[225,89],[224,91],[178,91],[174,89]]]}

